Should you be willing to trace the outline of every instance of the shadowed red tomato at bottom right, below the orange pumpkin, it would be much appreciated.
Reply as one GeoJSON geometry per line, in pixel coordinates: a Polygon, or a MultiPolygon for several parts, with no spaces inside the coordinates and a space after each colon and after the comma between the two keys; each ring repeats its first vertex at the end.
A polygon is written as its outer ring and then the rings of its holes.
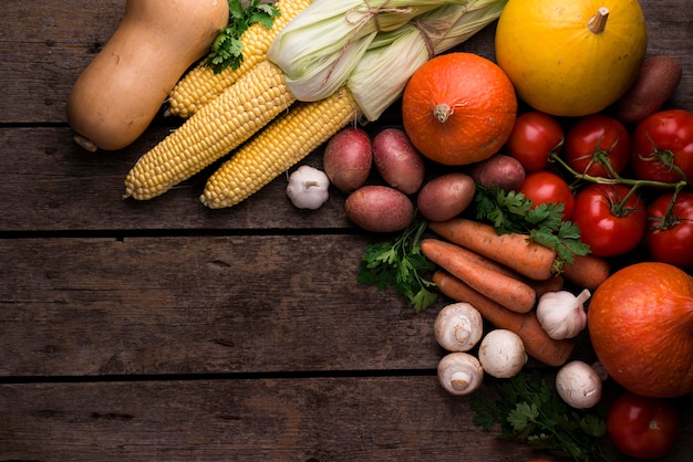
{"type": "Polygon", "coordinates": [[[673,447],[680,418],[674,403],[624,392],[607,416],[607,431],[617,449],[635,459],[659,459],[673,447]]]}

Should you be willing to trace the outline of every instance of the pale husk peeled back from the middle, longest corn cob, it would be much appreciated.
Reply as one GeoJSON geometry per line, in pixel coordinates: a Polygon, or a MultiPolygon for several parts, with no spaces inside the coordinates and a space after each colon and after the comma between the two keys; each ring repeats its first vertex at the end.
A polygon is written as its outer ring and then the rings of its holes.
{"type": "Polygon", "coordinates": [[[316,0],[272,42],[267,57],[299,101],[318,101],[344,84],[381,32],[395,31],[442,4],[469,0],[316,0]]]}

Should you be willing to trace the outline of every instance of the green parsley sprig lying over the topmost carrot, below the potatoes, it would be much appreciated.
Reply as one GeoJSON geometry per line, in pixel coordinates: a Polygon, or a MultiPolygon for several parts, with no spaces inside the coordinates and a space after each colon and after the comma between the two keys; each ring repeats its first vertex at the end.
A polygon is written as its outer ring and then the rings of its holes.
{"type": "Polygon", "coordinates": [[[499,234],[528,234],[532,241],[555,249],[558,260],[572,263],[575,255],[590,252],[580,239],[580,228],[563,220],[562,203],[534,202],[521,192],[476,185],[476,218],[488,221],[499,234]]]}

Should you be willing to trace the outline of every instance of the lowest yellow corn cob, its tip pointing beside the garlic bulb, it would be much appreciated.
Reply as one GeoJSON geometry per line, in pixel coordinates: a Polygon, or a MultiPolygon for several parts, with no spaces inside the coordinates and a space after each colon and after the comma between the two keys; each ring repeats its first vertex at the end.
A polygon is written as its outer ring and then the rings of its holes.
{"type": "Polygon", "coordinates": [[[239,203],[359,115],[359,106],[345,87],[318,102],[297,103],[224,162],[207,180],[199,200],[210,209],[239,203]]]}

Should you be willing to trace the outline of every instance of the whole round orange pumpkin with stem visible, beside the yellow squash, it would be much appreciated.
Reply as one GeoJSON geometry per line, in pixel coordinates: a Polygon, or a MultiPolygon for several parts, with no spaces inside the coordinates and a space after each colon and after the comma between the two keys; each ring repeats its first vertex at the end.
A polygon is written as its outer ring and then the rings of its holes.
{"type": "Polygon", "coordinates": [[[494,62],[449,53],[423,64],[402,97],[404,129],[427,158],[461,166],[489,158],[510,136],[515,88],[494,62]]]}

